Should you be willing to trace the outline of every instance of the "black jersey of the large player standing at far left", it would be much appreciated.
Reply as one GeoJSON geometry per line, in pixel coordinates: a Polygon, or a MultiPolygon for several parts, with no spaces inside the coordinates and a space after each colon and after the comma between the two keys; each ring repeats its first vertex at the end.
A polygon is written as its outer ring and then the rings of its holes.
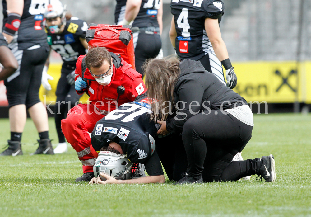
{"type": "MultiPolygon", "coordinates": [[[[48,49],[46,33],[43,26],[43,14],[47,0],[24,0],[21,25],[16,32],[19,50],[26,50],[33,45],[41,45],[48,49]]],[[[7,22],[7,1],[2,0],[3,26],[7,22]]]]}

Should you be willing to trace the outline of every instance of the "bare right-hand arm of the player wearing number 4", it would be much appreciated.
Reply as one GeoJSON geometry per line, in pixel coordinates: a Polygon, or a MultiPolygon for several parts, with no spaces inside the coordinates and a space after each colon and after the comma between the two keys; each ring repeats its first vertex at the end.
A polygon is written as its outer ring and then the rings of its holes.
{"type": "Polygon", "coordinates": [[[205,19],[205,31],[211,41],[216,57],[221,61],[228,59],[228,51],[224,40],[221,38],[218,19],[205,19]]]}

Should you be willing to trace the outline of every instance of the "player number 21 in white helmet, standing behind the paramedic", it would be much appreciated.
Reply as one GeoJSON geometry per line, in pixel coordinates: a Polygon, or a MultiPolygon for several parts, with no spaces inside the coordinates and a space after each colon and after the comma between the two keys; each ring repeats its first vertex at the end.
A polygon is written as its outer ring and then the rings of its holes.
{"type": "MultiPolygon", "coordinates": [[[[74,107],[81,97],[75,90],[75,68],[78,57],[86,54],[85,34],[88,26],[85,21],[71,17],[59,0],[49,0],[44,17],[48,44],[63,59],[61,77],[56,89],[55,125],[58,146],[54,149],[54,153],[63,153],[67,151],[67,143],[62,132],[61,121],[66,118],[68,109],[74,107]]],[[[49,58],[43,68],[42,85],[46,90],[51,90],[48,80],[53,80],[53,77],[47,74],[48,68],[49,58]]]]}

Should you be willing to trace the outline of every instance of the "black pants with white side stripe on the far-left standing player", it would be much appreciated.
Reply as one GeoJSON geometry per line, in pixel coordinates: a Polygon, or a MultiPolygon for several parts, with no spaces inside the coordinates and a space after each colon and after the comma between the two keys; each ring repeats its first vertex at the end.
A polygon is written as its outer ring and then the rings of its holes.
{"type": "Polygon", "coordinates": [[[20,69],[17,69],[15,75],[20,74],[12,80],[9,77],[4,82],[7,87],[7,101],[9,108],[26,105],[26,109],[28,109],[40,102],[39,89],[48,51],[44,47],[33,50],[17,50],[14,52],[14,56],[20,63],[20,69]]]}

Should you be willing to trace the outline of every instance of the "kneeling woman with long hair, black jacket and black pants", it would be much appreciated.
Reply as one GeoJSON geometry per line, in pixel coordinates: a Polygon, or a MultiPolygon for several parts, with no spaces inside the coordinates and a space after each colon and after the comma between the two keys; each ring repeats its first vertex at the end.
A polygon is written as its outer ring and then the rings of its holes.
{"type": "Polygon", "coordinates": [[[254,174],[275,181],[273,155],[232,162],[252,136],[253,114],[243,97],[200,61],[151,59],[144,70],[148,97],[157,100],[151,110],[153,120],[161,120],[158,134],[181,134],[187,153],[187,172],[175,184],[235,181],[254,174]]]}

